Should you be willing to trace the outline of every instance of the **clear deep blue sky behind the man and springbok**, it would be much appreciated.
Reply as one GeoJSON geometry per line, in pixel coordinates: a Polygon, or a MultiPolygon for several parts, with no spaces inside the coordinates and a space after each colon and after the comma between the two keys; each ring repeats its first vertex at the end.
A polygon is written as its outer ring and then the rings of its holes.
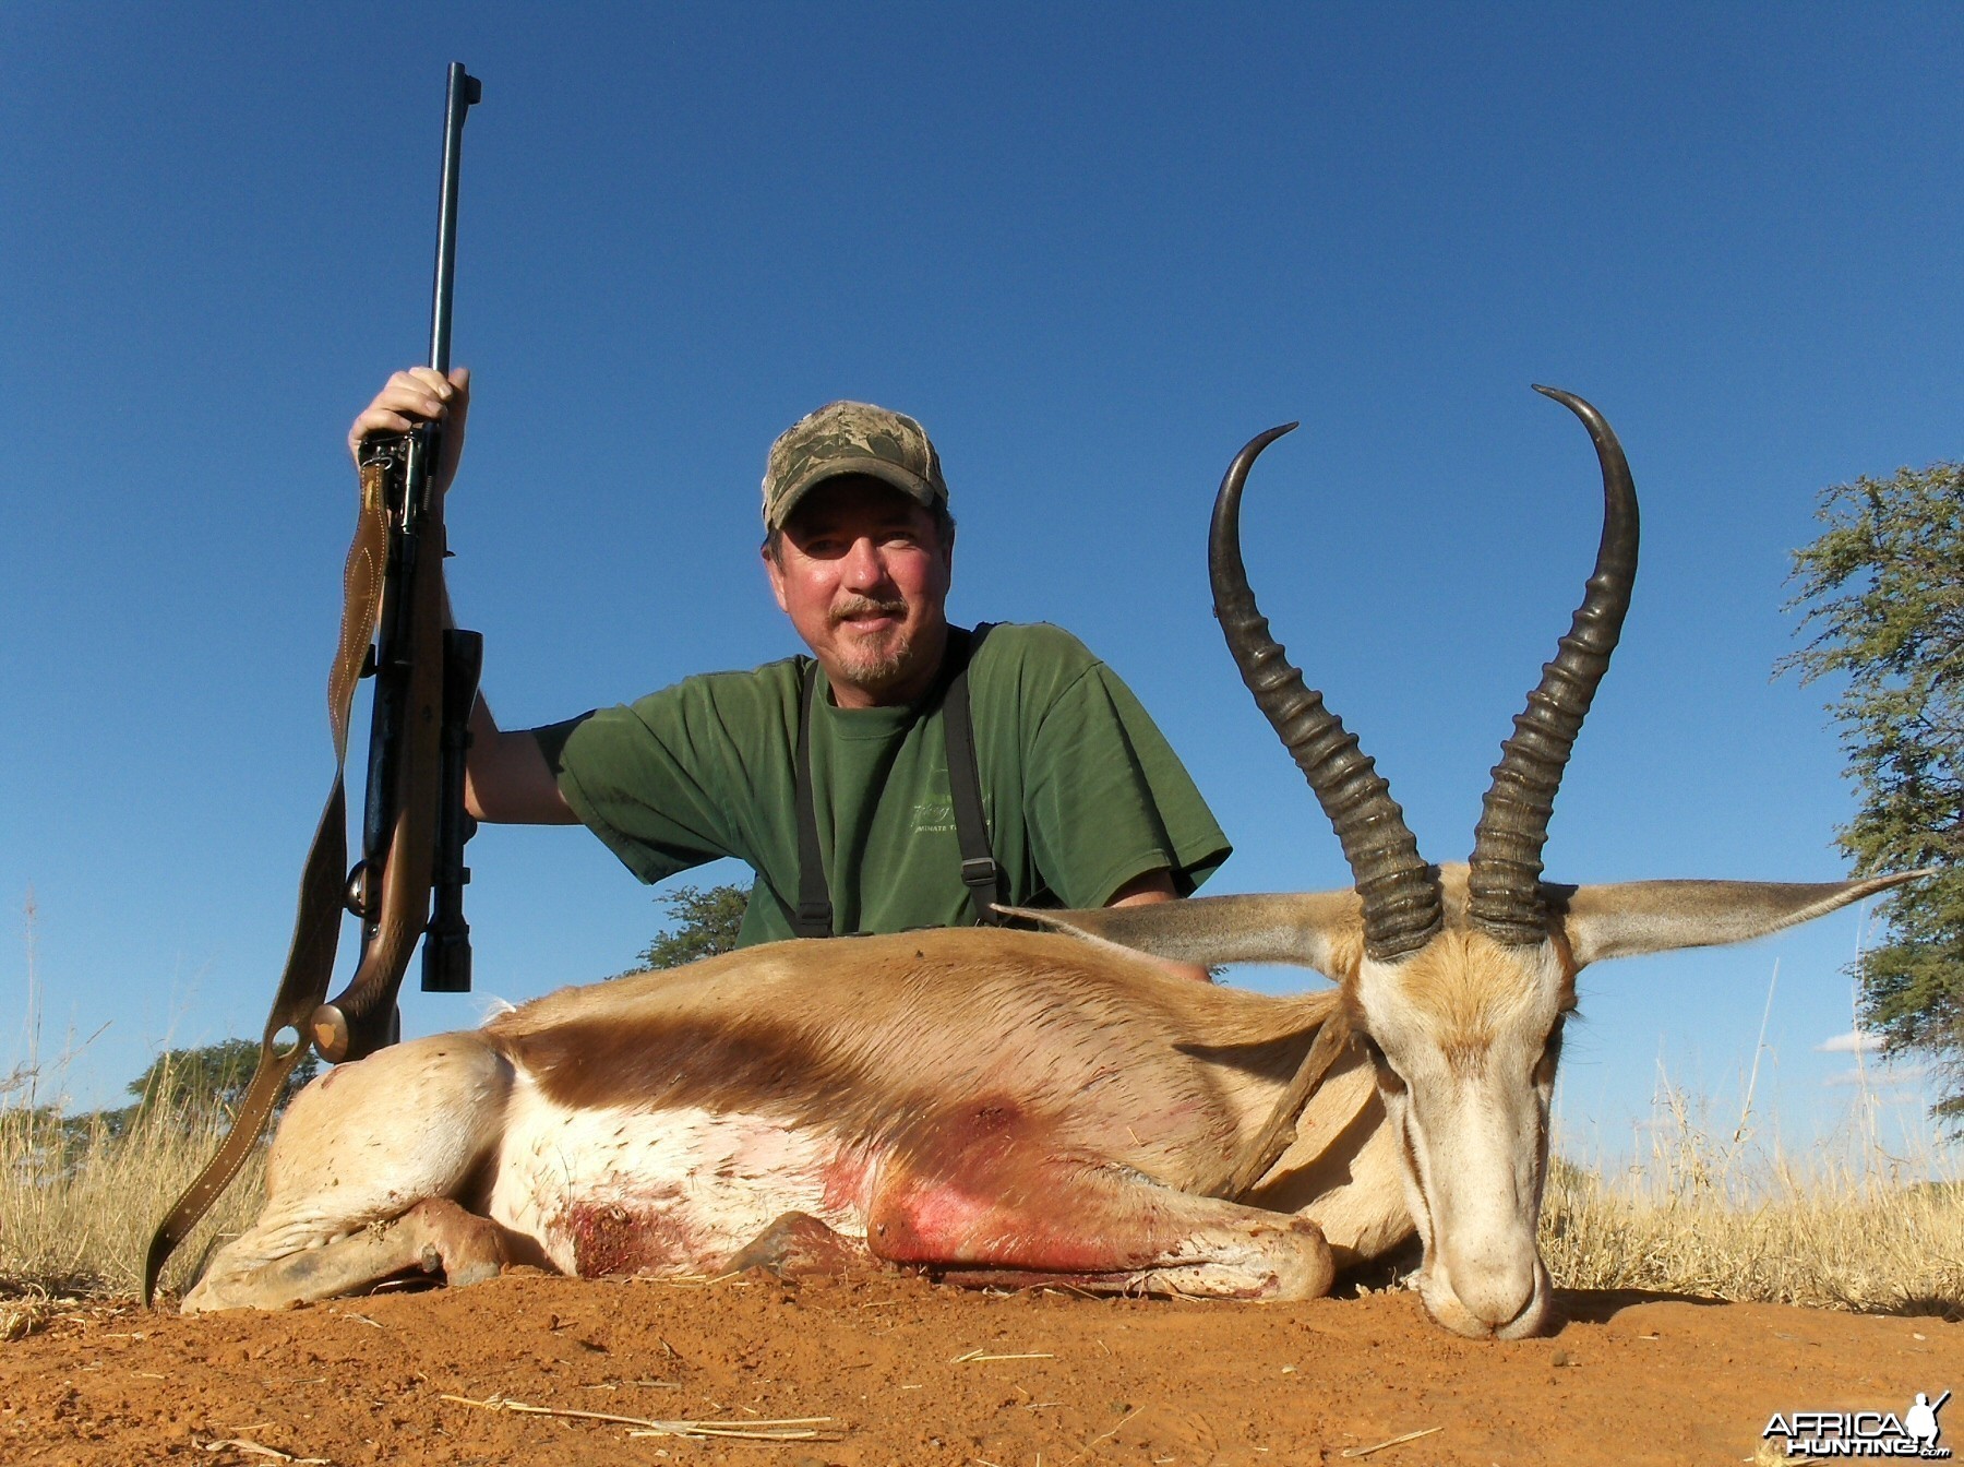
{"type": "MultiPolygon", "coordinates": [[[[1815,493],[1956,452],[1960,39],[1950,6],[8,6],[0,1068],[29,890],[43,1051],[108,1025],[79,1100],[263,1021],[330,778],[342,436],[424,350],[448,61],[485,82],[452,587],[501,721],[790,652],[764,450],[870,399],[941,446],[953,613],[1112,662],[1231,892],[1347,876],[1208,615],[1222,469],[1302,418],[1249,491],[1255,587],[1463,858],[1595,546],[1534,381],[1609,414],[1644,503],[1550,874],[1844,868],[1823,689],[1770,672],[1815,493]]],[[[577,829],[471,866],[487,994],[658,927],[577,829]]],[[[1618,1145],[1660,1064],[1736,1108],[1775,962],[1760,1100],[1832,1127],[1856,943],[1585,974],[1571,1133],[1618,1145]]]]}

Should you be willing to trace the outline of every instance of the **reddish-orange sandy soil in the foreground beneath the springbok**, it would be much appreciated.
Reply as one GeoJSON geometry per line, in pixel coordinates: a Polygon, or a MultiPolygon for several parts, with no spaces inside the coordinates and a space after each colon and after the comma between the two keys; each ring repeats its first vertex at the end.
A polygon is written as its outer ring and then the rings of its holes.
{"type": "Polygon", "coordinates": [[[1402,1292],[1182,1304],[894,1275],[518,1273],[192,1320],[65,1304],[0,1343],[0,1461],[1736,1463],[1775,1410],[1901,1414],[1917,1390],[1964,1388],[1964,1326],[1937,1318],[1563,1302],[1567,1328],[1526,1343],[1455,1339],[1402,1292]],[[825,1420],[811,1440],[693,1441],[483,1404],[499,1398],[752,1430],[825,1420]]]}

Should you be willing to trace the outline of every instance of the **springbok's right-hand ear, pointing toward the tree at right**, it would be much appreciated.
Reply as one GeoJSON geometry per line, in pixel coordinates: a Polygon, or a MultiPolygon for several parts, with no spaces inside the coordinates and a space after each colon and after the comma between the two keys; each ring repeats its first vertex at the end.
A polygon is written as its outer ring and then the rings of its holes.
{"type": "Polygon", "coordinates": [[[1862,882],[1622,882],[1542,884],[1542,901],[1561,921],[1575,966],[1681,947],[1750,943],[1860,901],[1929,872],[1862,882]]]}

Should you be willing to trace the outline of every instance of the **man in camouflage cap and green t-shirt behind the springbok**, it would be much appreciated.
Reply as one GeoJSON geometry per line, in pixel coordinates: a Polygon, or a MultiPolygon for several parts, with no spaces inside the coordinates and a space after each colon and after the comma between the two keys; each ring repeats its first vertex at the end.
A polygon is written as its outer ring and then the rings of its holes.
{"type": "MultiPolygon", "coordinates": [[[[442,420],[448,489],[467,405],[467,371],[397,373],[350,450],[442,420]]],[[[756,872],[742,945],[962,925],[988,896],[1169,901],[1228,858],[1165,736],[1076,638],[949,626],[955,520],[919,422],[833,403],[793,424],[766,463],[764,528],[764,573],[809,658],[687,678],[546,729],[501,731],[479,699],[469,811],[583,823],[644,882],[736,856],[756,872]],[[960,744],[951,758],[951,723],[956,736],[972,727],[996,864],[982,888],[964,884],[966,760],[960,744]]]]}

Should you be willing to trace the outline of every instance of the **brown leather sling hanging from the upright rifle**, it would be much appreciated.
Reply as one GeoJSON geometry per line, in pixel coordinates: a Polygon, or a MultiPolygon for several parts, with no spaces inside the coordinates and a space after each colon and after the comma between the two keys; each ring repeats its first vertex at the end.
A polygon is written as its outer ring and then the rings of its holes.
{"type": "Polygon", "coordinates": [[[251,1084],[240,1102],[232,1129],[218,1155],[206,1163],[185,1196],[177,1200],[149,1239],[143,1259],[143,1304],[157,1292],[157,1277],[165,1261],[185,1241],[198,1218],[238,1176],[259,1133],[273,1115],[287,1076],[306,1055],[306,1023],[334,978],[334,949],[342,933],[342,886],[348,880],[348,713],[354,705],[361,662],[375,636],[381,611],[383,562],[389,552],[387,463],[361,469],[361,511],[355,518],[355,538],[348,546],[348,566],[342,571],[342,636],[328,668],[328,729],[334,736],[334,788],[320,813],[314,844],[300,872],[300,901],[293,923],[293,945],[287,949],[287,970],[279,976],[273,1011],[259,1039],[259,1062],[251,1084]],[[287,1053],[279,1051],[281,1029],[293,1029],[299,1039],[287,1053]]]}

